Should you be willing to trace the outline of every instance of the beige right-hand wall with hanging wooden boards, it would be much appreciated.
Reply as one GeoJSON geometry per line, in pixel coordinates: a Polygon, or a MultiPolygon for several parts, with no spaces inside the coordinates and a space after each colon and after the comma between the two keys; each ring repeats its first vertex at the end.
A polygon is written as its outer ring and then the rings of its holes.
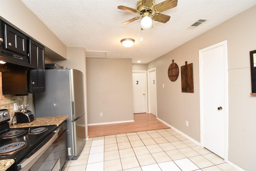
{"type": "Polygon", "coordinates": [[[158,117],[200,142],[198,51],[227,40],[228,160],[247,171],[256,168],[256,96],[250,95],[249,54],[256,50],[255,18],[256,6],[148,64],[148,69],[156,67],[158,117]],[[194,93],[181,92],[180,76],[176,82],[168,79],[167,70],[172,60],[179,68],[185,61],[193,63],[194,93]],[[186,120],[189,127],[185,125],[186,120]]]}

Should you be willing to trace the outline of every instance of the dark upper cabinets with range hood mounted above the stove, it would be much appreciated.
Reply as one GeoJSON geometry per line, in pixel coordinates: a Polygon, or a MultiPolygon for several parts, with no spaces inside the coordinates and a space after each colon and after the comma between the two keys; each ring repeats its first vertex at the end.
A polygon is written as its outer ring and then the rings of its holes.
{"type": "Polygon", "coordinates": [[[0,26],[2,94],[44,91],[44,46],[2,18],[0,26]]]}

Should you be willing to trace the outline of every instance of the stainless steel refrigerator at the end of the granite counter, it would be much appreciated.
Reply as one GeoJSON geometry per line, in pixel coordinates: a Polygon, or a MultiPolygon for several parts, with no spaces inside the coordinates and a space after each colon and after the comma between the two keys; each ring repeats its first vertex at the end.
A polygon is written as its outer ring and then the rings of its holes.
{"type": "Polygon", "coordinates": [[[74,69],[45,71],[45,92],[34,93],[35,116],[68,115],[68,159],[77,159],[86,142],[83,73],[74,69]]]}

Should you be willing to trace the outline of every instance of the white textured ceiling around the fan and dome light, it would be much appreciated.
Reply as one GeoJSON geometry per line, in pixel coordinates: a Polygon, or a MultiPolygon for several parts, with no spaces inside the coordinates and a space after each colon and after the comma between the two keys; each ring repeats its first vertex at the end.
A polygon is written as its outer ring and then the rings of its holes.
{"type": "MultiPolygon", "coordinates": [[[[156,4],[164,0],[155,0],[156,4]]],[[[140,29],[139,16],[119,10],[123,5],[136,9],[137,0],[22,0],[22,2],[68,47],[84,47],[86,56],[132,58],[147,64],[192,38],[256,5],[256,0],[178,0],[175,8],[162,14],[166,23],[153,21],[153,28],[140,29]],[[199,19],[207,21],[198,27],[199,19]],[[140,37],[143,38],[140,42],[140,37]],[[133,38],[134,46],[124,48],[123,38],[133,38]],[[97,52],[93,52],[97,51],[97,52]],[[98,52],[99,51],[99,52],[98,52]]]]}

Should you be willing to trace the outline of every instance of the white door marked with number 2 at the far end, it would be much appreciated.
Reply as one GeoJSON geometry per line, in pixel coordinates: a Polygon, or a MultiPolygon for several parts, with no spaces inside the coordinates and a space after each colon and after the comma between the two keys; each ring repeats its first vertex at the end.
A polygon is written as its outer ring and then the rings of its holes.
{"type": "Polygon", "coordinates": [[[132,71],[133,113],[147,112],[147,73],[132,71]]]}

